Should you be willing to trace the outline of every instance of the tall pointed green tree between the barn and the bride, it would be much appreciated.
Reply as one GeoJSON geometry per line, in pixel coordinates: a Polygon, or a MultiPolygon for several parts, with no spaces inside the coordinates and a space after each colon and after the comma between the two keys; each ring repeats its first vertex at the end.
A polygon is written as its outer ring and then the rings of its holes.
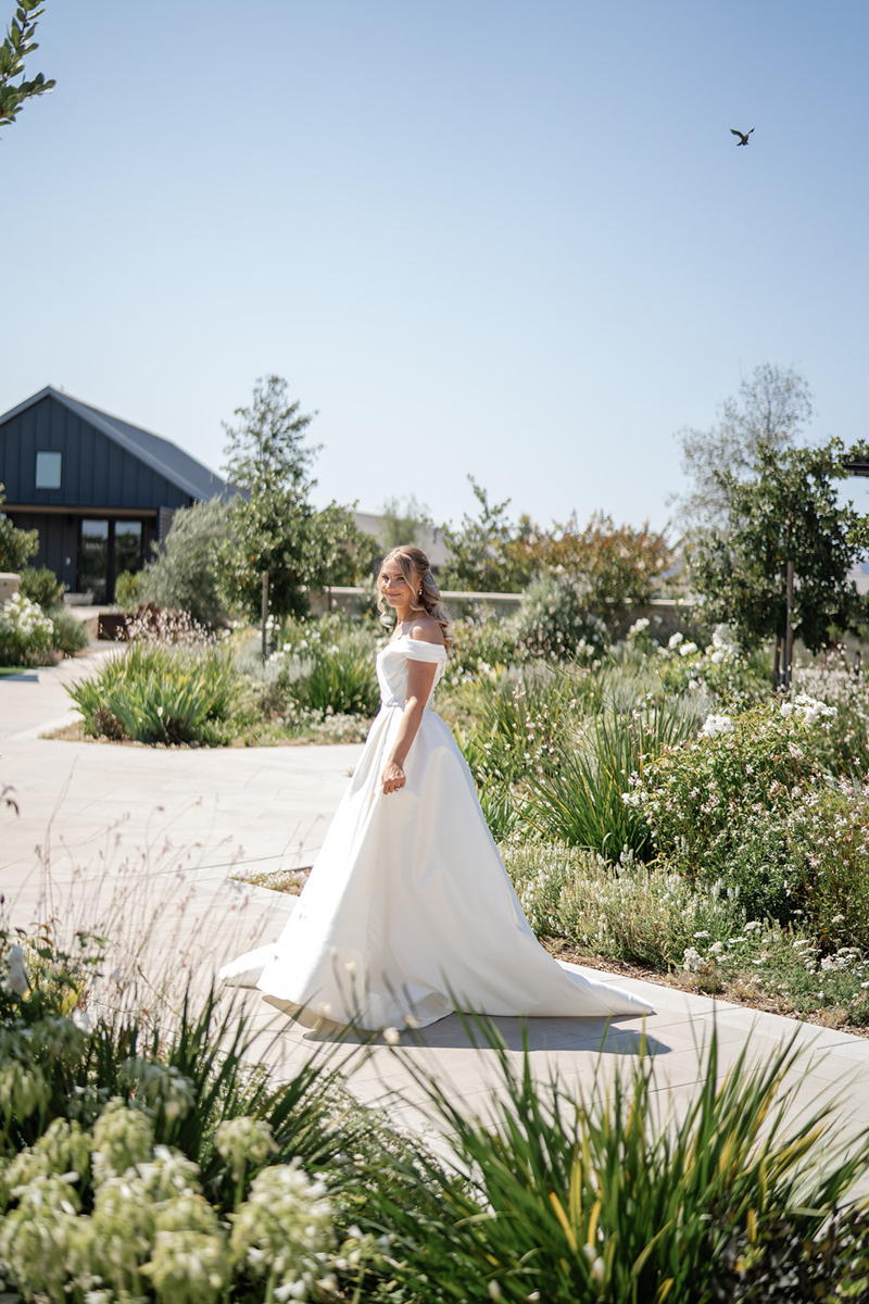
{"type": "Polygon", "coordinates": [[[261,377],[250,407],[236,408],[225,469],[244,490],[232,503],[220,548],[227,602],[257,621],[262,572],[268,571],[274,615],[304,615],[306,588],[354,583],[371,563],[371,542],[357,529],[353,509],[331,502],[318,511],[310,501],[317,481],[310,467],[319,446],[306,442],[313,415],[289,402],[287,381],[261,377]]]}

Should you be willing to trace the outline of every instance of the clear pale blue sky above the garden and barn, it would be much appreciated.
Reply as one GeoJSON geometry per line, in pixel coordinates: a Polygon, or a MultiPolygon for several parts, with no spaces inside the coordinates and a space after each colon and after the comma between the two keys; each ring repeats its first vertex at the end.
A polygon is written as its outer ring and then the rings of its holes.
{"type": "Polygon", "coordinates": [[[808,377],[813,438],[869,434],[865,0],[46,10],[0,412],[63,385],[219,468],[278,372],[319,501],[456,519],[470,472],[658,527],[674,432],[758,363],[808,377]]]}

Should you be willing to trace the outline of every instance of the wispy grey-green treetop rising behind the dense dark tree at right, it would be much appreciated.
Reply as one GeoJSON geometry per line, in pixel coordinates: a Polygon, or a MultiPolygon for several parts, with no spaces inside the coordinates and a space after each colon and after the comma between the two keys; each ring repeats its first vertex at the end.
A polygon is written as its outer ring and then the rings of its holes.
{"type": "Polygon", "coordinates": [[[775,454],[792,447],[810,416],[812,394],[805,377],[792,368],[763,363],[743,381],[737,398],[724,399],[711,429],[679,432],[688,489],[675,494],[672,502],[692,537],[726,527],[730,486],[750,479],[761,449],[775,454]],[[723,472],[728,479],[722,479],[723,472]]]}

